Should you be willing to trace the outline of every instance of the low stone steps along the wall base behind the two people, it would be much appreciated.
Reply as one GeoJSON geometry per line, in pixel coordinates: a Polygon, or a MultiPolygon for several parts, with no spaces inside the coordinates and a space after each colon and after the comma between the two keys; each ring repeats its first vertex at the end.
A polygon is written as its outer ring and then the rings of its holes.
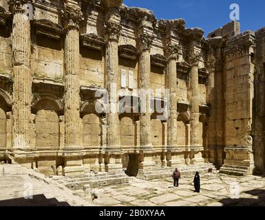
{"type": "MultiPolygon", "coordinates": [[[[212,170],[212,172],[216,171],[216,168],[213,166],[213,164],[201,164],[201,165],[189,165],[189,166],[178,166],[178,170],[180,171],[181,175],[194,175],[196,171],[199,173],[209,173],[209,169],[212,170]]],[[[139,170],[137,177],[139,179],[160,179],[160,178],[167,178],[171,177],[173,170],[175,168],[170,167],[164,167],[164,168],[156,168],[155,170],[145,170],[142,172],[142,170],[139,170]]]]}

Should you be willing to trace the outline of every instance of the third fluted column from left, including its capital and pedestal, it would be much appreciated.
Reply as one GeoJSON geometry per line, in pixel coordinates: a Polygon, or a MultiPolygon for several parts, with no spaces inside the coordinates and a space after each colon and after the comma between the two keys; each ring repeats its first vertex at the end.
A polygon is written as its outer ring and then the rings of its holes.
{"type": "Polygon", "coordinates": [[[105,17],[106,77],[105,87],[109,95],[106,113],[107,135],[105,148],[105,171],[122,173],[122,151],[120,146],[120,121],[118,118],[118,39],[120,36],[120,14],[118,7],[109,8],[105,17]]]}

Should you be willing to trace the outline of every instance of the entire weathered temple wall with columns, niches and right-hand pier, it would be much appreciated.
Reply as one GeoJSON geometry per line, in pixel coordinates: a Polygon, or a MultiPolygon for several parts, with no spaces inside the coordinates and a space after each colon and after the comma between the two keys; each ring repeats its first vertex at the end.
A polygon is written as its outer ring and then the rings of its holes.
{"type": "Polygon", "coordinates": [[[0,159],[66,176],[265,172],[265,28],[203,35],[122,0],[1,0],[0,159]]]}

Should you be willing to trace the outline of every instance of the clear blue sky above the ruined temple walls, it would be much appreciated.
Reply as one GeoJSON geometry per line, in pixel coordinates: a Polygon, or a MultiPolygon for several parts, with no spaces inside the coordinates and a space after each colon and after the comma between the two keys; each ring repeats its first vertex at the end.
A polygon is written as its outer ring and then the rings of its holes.
{"type": "Polygon", "coordinates": [[[231,21],[231,3],[240,5],[241,32],[265,26],[264,0],[124,0],[123,3],[148,8],[158,19],[182,18],[187,28],[202,28],[205,36],[231,21]]]}

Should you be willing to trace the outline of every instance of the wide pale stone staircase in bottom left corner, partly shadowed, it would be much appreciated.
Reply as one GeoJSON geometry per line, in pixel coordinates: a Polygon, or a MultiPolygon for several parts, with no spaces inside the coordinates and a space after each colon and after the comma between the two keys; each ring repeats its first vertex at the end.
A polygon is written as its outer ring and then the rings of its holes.
{"type": "Polygon", "coordinates": [[[0,164],[0,206],[94,206],[50,177],[19,164],[0,164]],[[25,186],[32,199],[25,199],[25,186]]]}

